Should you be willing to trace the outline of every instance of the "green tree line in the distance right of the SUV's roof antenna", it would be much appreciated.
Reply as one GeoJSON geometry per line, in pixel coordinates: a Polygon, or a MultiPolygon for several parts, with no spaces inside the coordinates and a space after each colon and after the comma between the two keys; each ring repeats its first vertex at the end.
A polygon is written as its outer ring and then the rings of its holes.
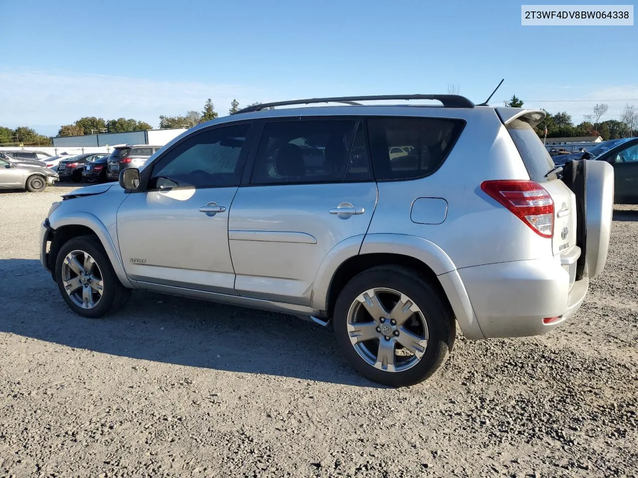
{"type": "MultiPolygon", "coordinates": [[[[506,106],[522,108],[523,101],[513,95],[505,102],[506,106]]],[[[633,105],[625,105],[620,115],[620,120],[602,120],[609,110],[605,103],[597,104],[591,109],[591,113],[585,115],[585,120],[574,124],[572,116],[567,112],[549,113],[545,119],[534,129],[540,138],[574,138],[577,136],[600,136],[603,141],[615,140],[634,136],[638,129],[638,109],[633,105]]]]}

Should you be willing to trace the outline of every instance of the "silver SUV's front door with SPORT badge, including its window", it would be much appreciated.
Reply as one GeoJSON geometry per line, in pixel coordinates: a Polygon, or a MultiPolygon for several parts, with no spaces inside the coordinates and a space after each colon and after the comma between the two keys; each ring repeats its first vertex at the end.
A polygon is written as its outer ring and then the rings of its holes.
{"type": "Polygon", "coordinates": [[[228,212],[241,181],[249,124],[207,129],[153,164],[145,192],[117,211],[124,269],[133,280],[234,294],[228,212]]]}

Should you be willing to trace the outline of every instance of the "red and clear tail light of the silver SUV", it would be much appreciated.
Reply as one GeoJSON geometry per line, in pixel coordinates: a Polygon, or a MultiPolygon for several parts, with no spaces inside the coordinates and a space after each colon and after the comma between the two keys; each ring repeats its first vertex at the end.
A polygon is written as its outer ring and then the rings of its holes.
{"type": "Polygon", "coordinates": [[[484,181],[480,189],[508,208],[539,236],[554,235],[554,200],[537,182],[528,180],[484,181]]]}

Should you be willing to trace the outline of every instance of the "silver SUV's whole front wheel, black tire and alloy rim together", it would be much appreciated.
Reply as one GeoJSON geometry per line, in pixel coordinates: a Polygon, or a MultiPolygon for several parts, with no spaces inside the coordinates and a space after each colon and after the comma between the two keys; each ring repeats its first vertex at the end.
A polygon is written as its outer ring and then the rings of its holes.
{"type": "Polygon", "coordinates": [[[64,243],[57,254],[55,277],[64,301],[84,317],[102,317],[122,307],[130,296],[95,236],[64,243]]]}

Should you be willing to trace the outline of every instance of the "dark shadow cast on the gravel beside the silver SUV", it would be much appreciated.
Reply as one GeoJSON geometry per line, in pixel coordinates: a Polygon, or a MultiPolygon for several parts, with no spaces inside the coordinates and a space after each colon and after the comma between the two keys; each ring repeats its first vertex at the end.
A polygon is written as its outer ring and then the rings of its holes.
{"type": "Polygon", "coordinates": [[[353,372],[331,327],[297,317],[134,291],[120,312],[84,319],[36,259],[0,260],[0,291],[0,332],[133,359],[383,387],[353,372]]]}

